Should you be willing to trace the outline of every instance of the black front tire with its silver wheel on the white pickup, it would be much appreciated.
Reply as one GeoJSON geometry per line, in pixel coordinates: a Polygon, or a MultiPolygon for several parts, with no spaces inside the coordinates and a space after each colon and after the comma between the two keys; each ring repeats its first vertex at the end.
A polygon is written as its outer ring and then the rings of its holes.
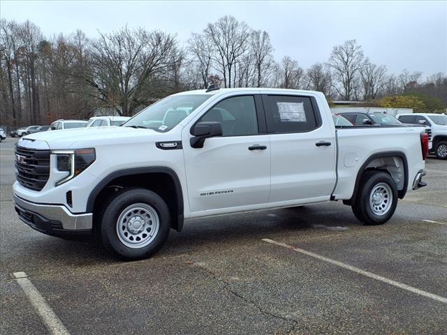
{"type": "MultiPolygon", "coordinates": [[[[141,213],[143,213],[143,211],[141,211],[141,213]]],[[[101,239],[103,241],[103,245],[106,249],[108,249],[108,251],[111,251],[119,258],[125,260],[140,260],[142,258],[149,258],[150,256],[154,255],[154,253],[159,251],[161,246],[163,246],[163,244],[165,243],[166,239],[168,238],[169,231],[170,211],[168,205],[158,194],[145,188],[126,188],[123,191],[119,191],[115,198],[113,198],[113,200],[111,200],[106,207],[103,218],[101,220],[101,239]],[[132,208],[132,206],[138,208],[138,206],[141,205],[145,205],[147,207],[147,211],[149,212],[147,212],[146,214],[140,214],[138,209],[135,209],[136,214],[134,214],[134,209],[132,208]],[[154,211],[150,212],[150,209],[153,209],[154,211]],[[129,221],[127,221],[127,223],[125,224],[120,223],[118,226],[119,220],[120,222],[123,222],[122,219],[124,219],[124,222],[126,222],[126,218],[128,216],[123,215],[126,214],[129,210],[131,211],[129,221]],[[146,220],[142,218],[142,215],[147,216],[146,220]],[[138,233],[140,235],[133,234],[130,230],[131,228],[129,227],[129,225],[131,225],[132,219],[135,217],[137,218],[137,221],[140,220],[137,222],[138,225],[140,225],[141,221],[145,222],[144,225],[140,227],[142,229],[138,233]],[[158,224],[156,225],[157,219],[158,224]],[[151,227],[149,227],[149,222],[152,225],[151,227]],[[120,228],[117,228],[117,226],[121,227],[122,225],[126,227],[126,230],[124,230],[123,226],[122,230],[124,232],[118,232],[117,229],[120,228]],[[155,229],[156,226],[158,226],[158,228],[155,229]],[[146,236],[145,227],[147,227],[148,232],[146,236]],[[150,235],[149,229],[152,228],[154,228],[154,230],[152,230],[154,234],[150,235]],[[125,237],[124,234],[126,234],[125,237]],[[135,239],[133,238],[134,236],[135,239]],[[131,245],[132,243],[142,243],[137,242],[137,239],[140,236],[140,240],[142,242],[145,242],[146,239],[147,241],[150,240],[150,243],[144,246],[133,245],[133,247],[129,247],[129,245],[131,245]],[[132,239],[132,241],[129,240],[130,238],[132,239]],[[126,245],[126,243],[128,245],[126,245]]]]}

